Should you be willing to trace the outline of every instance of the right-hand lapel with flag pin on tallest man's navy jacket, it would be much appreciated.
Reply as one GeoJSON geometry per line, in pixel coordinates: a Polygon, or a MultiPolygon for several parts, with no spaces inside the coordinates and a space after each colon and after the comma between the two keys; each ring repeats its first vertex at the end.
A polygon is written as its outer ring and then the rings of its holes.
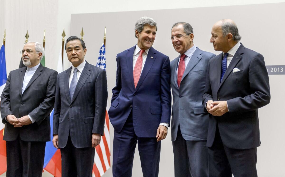
{"type": "Polygon", "coordinates": [[[141,86],[141,84],[143,83],[143,80],[144,78],[146,77],[148,71],[150,70],[155,58],[156,58],[156,51],[150,47],[149,51],[148,51],[148,54],[147,54],[147,57],[146,57],[146,61],[144,63],[144,67],[143,67],[143,71],[141,73],[141,76],[140,76],[140,79],[139,79],[139,82],[137,84],[137,87],[135,89],[135,91],[137,91],[139,89],[139,87],[141,86]],[[150,58],[152,57],[152,58],[150,58]]]}

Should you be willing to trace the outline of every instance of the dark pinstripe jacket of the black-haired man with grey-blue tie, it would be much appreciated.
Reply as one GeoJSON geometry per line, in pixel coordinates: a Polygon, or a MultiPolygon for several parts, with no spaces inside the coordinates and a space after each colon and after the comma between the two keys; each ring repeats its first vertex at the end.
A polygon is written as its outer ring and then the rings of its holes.
{"type": "Polygon", "coordinates": [[[60,148],[66,146],[69,134],[75,147],[91,147],[92,133],[104,134],[106,71],[86,61],[71,100],[68,89],[71,70],[72,67],[58,74],[53,134],[58,134],[60,148]]]}

